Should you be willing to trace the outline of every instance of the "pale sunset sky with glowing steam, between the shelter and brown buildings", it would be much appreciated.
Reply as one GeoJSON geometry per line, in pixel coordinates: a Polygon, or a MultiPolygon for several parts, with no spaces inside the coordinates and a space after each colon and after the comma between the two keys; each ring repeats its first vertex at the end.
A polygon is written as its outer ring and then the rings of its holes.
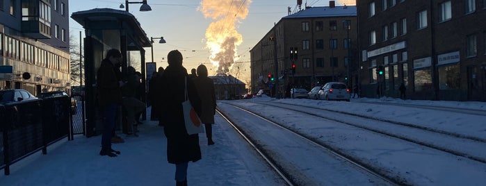
{"type": "MultiPolygon", "coordinates": [[[[69,6],[72,14],[92,8],[124,10],[119,8],[121,3],[124,1],[72,0],[69,6]]],[[[183,65],[188,72],[204,64],[210,76],[216,75],[217,71],[236,74],[236,70],[231,70],[233,61],[239,67],[234,69],[240,69],[240,73],[234,76],[245,83],[250,82],[250,49],[275,23],[288,15],[288,7],[292,12],[298,10],[297,0],[148,0],[147,3],[152,11],[140,12],[140,4],[131,3],[129,12],[138,19],[147,37],[163,37],[167,41],[165,44],[154,41],[154,61],[157,67],[166,67],[167,53],[177,49],[184,56],[183,65]],[[222,33],[222,30],[227,32],[222,33]],[[206,36],[206,32],[212,33],[212,36],[206,36]],[[225,44],[224,41],[231,41],[232,44],[225,44]],[[235,57],[222,58],[218,57],[218,53],[229,53],[229,56],[235,57]],[[213,66],[210,58],[215,59],[216,64],[223,65],[213,66]]],[[[329,6],[329,1],[303,0],[302,9],[306,3],[307,6],[329,6]]],[[[354,0],[336,1],[337,6],[345,3],[355,5],[354,0]]],[[[72,42],[79,43],[80,31],[84,37],[82,26],[70,19],[70,35],[75,39],[72,42]]],[[[145,48],[145,51],[146,62],[152,61],[150,48],[145,48]]]]}

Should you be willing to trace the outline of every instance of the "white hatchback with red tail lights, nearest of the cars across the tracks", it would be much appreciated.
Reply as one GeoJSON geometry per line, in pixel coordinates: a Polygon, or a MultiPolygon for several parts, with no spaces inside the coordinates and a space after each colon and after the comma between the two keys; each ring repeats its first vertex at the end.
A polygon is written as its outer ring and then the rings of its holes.
{"type": "Polygon", "coordinates": [[[325,83],[318,92],[318,99],[349,101],[350,97],[350,90],[346,84],[341,82],[325,83]]]}

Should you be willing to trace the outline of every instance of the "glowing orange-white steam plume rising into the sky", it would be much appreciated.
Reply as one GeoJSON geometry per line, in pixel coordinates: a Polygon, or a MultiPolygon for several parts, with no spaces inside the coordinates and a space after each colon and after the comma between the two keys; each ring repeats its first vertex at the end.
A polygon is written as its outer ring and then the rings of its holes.
{"type": "Polygon", "coordinates": [[[202,0],[198,10],[214,21],[206,28],[206,47],[211,50],[209,60],[218,67],[217,74],[227,74],[238,58],[236,47],[243,37],[237,24],[248,15],[251,0],[202,0]]]}

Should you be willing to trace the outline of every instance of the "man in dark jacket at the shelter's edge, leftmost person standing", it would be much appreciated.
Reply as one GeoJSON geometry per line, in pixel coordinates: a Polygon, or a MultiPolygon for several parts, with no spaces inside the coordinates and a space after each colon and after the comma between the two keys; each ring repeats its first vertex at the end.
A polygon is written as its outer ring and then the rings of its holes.
{"type": "Polygon", "coordinates": [[[111,149],[111,137],[115,128],[118,107],[122,104],[122,92],[120,87],[124,85],[120,73],[122,54],[117,49],[111,49],[102,60],[102,65],[97,71],[97,86],[99,106],[102,107],[104,122],[102,134],[102,151],[99,155],[115,157],[113,153],[119,151],[111,149]]]}

